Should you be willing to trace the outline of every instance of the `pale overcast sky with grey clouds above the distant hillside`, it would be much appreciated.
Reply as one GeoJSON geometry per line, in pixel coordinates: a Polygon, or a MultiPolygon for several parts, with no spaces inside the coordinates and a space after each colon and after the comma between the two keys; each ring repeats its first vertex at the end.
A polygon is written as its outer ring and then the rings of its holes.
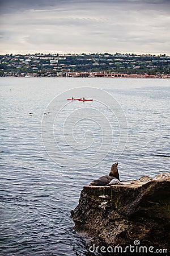
{"type": "Polygon", "coordinates": [[[0,0],[0,54],[170,55],[170,0],[0,0]]]}

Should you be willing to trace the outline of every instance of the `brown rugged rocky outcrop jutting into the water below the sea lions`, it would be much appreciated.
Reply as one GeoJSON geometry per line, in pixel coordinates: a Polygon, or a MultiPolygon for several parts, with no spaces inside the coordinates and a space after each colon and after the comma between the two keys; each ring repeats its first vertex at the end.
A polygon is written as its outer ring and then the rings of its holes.
{"type": "MultiPolygon", "coordinates": [[[[121,185],[85,186],[71,211],[75,229],[95,246],[169,248],[170,174],[123,181],[121,185]]],[[[164,254],[165,255],[165,254],[164,254]]]]}

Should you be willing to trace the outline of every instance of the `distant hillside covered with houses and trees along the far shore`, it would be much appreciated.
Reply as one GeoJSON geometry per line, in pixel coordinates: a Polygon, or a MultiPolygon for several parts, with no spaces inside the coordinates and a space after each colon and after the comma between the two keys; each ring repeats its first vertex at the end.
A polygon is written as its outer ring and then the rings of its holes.
{"type": "Polygon", "coordinates": [[[121,53],[1,55],[0,76],[163,77],[170,56],[121,53]]]}

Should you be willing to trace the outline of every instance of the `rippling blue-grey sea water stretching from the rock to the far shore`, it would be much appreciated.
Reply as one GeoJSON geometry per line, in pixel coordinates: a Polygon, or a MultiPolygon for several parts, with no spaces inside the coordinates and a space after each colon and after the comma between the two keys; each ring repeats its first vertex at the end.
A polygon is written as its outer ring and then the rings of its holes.
{"type": "MultiPolygon", "coordinates": [[[[0,82],[0,254],[90,255],[84,239],[74,231],[70,210],[78,204],[83,185],[108,174],[120,136],[118,122],[107,107],[95,101],[81,106],[83,102],[70,102],[55,120],[56,109],[44,115],[46,106],[59,93],[81,86],[93,86],[112,94],[124,110],[129,127],[128,142],[118,159],[121,180],[143,175],[155,177],[169,171],[169,80],[1,78],[0,82]],[[105,134],[107,143],[102,144],[101,150],[110,147],[109,140],[112,147],[100,163],[91,154],[100,147],[105,123],[99,122],[100,127],[97,122],[91,125],[88,119],[87,122],[82,119],[75,126],[74,138],[76,145],[80,142],[79,150],[63,141],[62,123],[70,111],[74,113],[79,107],[86,108],[86,116],[93,121],[96,117],[92,111],[98,110],[99,121],[103,121],[103,114],[112,125],[113,144],[111,134],[105,134]],[[48,147],[51,145],[50,119],[54,120],[54,139],[65,151],[61,158],[58,155],[59,165],[50,158],[55,148],[50,148],[48,155],[41,139],[41,120],[45,120],[48,147]],[[91,138],[95,138],[94,146],[84,151],[81,145],[91,142],[91,138]],[[88,158],[96,165],[84,169],[84,159],[88,158]],[[66,163],[73,169],[65,167],[66,163]]],[[[75,115],[71,118],[75,122],[75,115]]],[[[67,139],[72,134],[69,124],[66,123],[65,130],[67,139]]]]}

